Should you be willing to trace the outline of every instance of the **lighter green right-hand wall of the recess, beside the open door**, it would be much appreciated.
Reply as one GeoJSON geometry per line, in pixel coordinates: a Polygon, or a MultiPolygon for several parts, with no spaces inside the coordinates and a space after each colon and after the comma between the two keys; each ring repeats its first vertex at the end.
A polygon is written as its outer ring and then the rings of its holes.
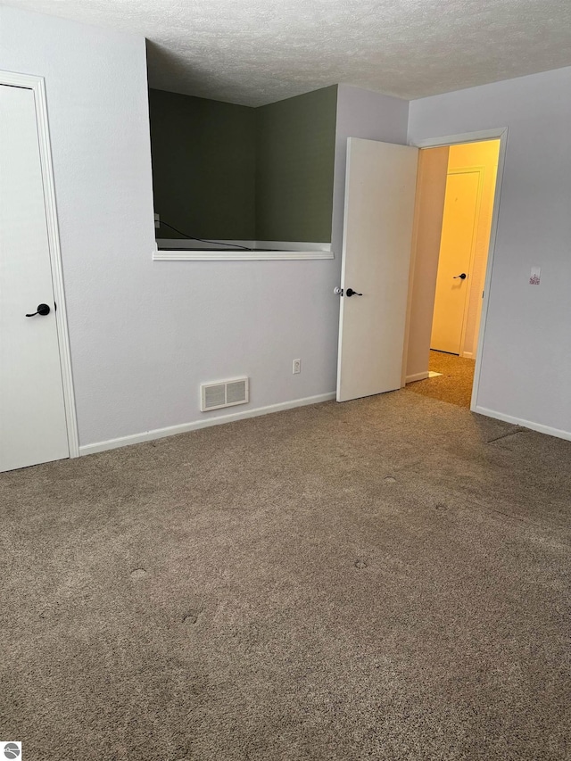
{"type": "Polygon", "coordinates": [[[256,237],[331,240],[337,87],[256,109],[256,237]]]}

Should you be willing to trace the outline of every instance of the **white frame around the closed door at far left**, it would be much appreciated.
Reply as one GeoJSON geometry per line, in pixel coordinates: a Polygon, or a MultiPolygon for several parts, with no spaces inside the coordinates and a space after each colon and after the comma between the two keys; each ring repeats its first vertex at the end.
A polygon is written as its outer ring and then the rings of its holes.
{"type": "Polygon", "coordinates": [[[54,167],[49,126],[47,120],[46,82],[43,77],[32,74],[19,74],[14,71],[0,70],[0,85],[23,87],[34,94],[36,106],[37,142],[44,185],[44,206],[46,208],[47,242],[52,269],[54,287],[55,325],[60,350],[60,367],[62,368],[63,405],[68,434],[70,458],[79,457],[78,421],[73,391],[71,372],[70,335],[68,331],[65,291],[63,287],[62,247],[57,222],[57,204],[55,202],[54,167]]]}

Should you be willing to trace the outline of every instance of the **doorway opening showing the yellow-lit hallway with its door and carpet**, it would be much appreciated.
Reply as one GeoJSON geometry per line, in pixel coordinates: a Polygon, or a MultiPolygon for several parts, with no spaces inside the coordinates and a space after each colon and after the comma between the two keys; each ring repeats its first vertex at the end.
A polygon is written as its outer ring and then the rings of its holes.
{"type": "Polygon", "coordinates": [[[419,156],[407,388],[468,409],[500,145],[479,140],[419,156]]]}

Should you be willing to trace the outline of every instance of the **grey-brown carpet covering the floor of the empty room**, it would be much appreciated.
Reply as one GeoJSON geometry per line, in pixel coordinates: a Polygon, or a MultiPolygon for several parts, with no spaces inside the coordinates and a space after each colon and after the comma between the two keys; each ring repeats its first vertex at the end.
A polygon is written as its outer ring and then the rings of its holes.
{"type": "Polygon", "coordinates": [[[0,476],[25,761],[568,759],[571,444],[401,391],[0,476]]]}

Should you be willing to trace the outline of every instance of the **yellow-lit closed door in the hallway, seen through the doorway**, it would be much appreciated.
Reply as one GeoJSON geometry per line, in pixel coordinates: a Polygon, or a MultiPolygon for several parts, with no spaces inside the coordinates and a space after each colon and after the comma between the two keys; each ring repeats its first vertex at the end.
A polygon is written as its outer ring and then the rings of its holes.
{"type": "Polygon", "coordinates": [[[430,348],[459,354],[476,244],[480,172],[453,172],[446,181],[430,348]]]}

